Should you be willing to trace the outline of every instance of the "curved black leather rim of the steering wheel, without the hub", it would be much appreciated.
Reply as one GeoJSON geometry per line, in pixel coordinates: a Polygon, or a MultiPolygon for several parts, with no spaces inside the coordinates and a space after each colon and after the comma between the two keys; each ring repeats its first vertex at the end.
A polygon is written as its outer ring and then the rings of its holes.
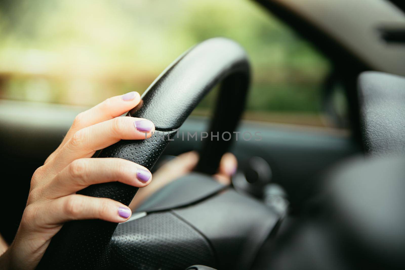
{"type": "MultiPolygon", "coordinates": [[[[250,68],[243,48],[226,38],[204,41],[181,55],[151,84],[141,103],[128,115],[153,121],[156,132],[146,140],[121,140],[98,157],[119,157],[151,169],[169,139],[200,100],[221,82],[209,136],[200,152],[197,170],[212,174],[230,147],[249,86],[250,68]],[[226,134],[224,138],[222,134],[226,134]],[[211,135],[211,134],[210,134],[211,135]],[[218,137],[216,137],[218,135],[218,137]]],[[[138,188],[112,182],[92,185],[77,193],[111,198],[129,205],[138,188]]],[[[38,268],[101,269],[117,223],[102,220],[71,221],[56,234],[38,268]]]]}

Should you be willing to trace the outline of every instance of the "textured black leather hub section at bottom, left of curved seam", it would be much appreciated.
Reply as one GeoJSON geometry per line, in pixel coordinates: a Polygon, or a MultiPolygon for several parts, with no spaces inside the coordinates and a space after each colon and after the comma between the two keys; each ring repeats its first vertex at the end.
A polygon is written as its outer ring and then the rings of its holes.
{"type": "Polygon", "coordinates": [[[195,263],[215,266],[217,257],[205,236],[167,211],[119,224],[100,268],[174,270],[195,263]]]}

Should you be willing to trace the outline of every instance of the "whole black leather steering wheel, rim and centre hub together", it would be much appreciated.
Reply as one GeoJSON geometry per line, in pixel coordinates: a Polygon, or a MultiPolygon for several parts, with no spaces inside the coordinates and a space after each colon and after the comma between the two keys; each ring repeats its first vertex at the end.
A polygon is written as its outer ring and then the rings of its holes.
{"type": "MultiPolygon", "coordinates": [[[[171,194],[164,192],[171,202],[160,200],[160,207],[149,207],[143,218],[119,225],[102,220],[64,224],[38,269],[185,269],[193,264],[215,268],[235,264],[233,269],[238,269],[237,264],[251,264],[255,246],[260,246],[278,217],[251,198],[241,200],[239,193],[207,176],[217,170],[230,147],[229,136],[234,135],[241,118],[249,76],[245,51],[226,38],[206,40],[168,66],[145,91],[141,103],[128,113],[153,121],[155,134],[145,140],[121,140],[103,149],[98,157],[128,159],[151,169],[200,100],[221,82],[210,128],[214,139],[205,140],[196,169],[205,174],[194,174],[194,180],[168,187],[171,194]],[[173,202],[185,193],[188,195],[183,201],[173,202]],[[227,240],[220,241],[223,236],[227,240]],[[245,254],[240,261],[234,259],[238,253],[245,254]]],[[[113,182],[92,185],[78,193],[129,205],[137,190],[113,182]]]]}

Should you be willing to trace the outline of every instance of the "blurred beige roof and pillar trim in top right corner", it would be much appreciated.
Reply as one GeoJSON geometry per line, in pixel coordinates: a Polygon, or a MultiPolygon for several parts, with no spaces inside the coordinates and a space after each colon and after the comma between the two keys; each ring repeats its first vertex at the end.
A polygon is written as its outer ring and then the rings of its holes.
{"type": "Polygon", "coordinates": [[[381,70],[405,75],[405,47],[387,44],[382,26],[403,26],[405,16],[384,0],[257,0],[337,66],[359,72],[381,70]],[[353,16],[356,14],[356,16],[353,16]],[[350,29],[353,28],[353,29],[350,29]],[[384,59],[384,61],[381,61],[384,59]]]}

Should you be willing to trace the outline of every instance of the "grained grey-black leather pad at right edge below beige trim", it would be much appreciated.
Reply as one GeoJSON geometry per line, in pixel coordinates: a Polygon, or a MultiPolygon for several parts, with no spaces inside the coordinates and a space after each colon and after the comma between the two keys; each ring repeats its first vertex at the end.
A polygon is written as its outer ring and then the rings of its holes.
{"type": "Polygon", "coordinates": [[[358,79],[364,150],[371,155],[405,153],[405,77],[363,72],[358,79]]]}

